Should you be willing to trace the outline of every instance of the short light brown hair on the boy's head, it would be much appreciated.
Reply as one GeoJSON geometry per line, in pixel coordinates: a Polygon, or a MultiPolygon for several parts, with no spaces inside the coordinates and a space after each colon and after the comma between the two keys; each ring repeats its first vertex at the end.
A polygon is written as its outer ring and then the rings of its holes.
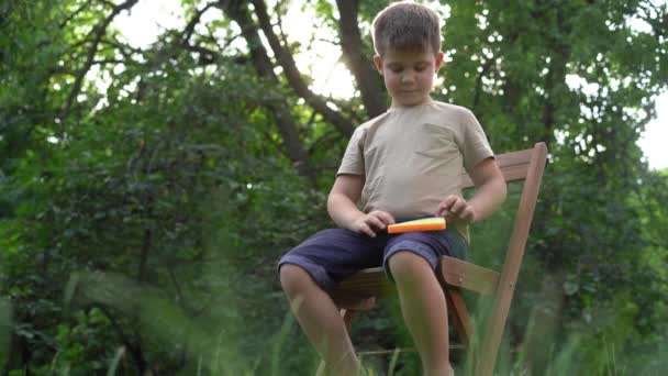
{"type": "Polygon", "coordinates": [[[413,1],[389,4],[374,19],[374,49],[441,51],[441,25],[433,10],[413,1]]]}

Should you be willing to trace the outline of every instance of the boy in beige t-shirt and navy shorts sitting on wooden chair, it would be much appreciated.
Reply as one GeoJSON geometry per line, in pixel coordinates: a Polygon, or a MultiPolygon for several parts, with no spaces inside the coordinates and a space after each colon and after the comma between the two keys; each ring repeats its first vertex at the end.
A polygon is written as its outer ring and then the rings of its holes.
{"type": "Polygon", "coordinates": [[[280,281],[326,373],[355,375],[359,362],[326,290],[360,268],[385,266],[424,375],[450,375],[437,259],[465,256],[468,225],[505,199],[505,181],[474,114],[430,97],[443,63],[436,13],[397,2],[372,26],[374,63],[391,108],[357,128],[348,143],[327,199],[339,228],[321,231],[287,253],[279,262],[280,281]],[[461,198],[463,169],[477,188],[468,201],[461,198]],[[431,215],[445,217],[447,230],[386,231],[396,221],[431,215]]]}

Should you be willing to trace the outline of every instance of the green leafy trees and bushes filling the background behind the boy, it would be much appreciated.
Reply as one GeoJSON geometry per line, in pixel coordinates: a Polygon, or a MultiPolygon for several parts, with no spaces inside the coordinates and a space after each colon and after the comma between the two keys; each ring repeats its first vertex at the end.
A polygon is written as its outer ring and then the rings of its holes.
{"type": "MultiPolygon", "coordinates": [[[[2,372],[313,372],[275,267],[331,225],[325,195],[346,140],[279,69],[278,80],[257,74],[225,11],[189,40],[166,30],[135,48],[104,26],[116,3],[0,5],[2,372]],[[313,181],[298,175],[269,110],[283,107],[313,181]]],[[[274,20],[298,5],[339,33],[333,1],[279,2],[274,20]]],[[[385,5],[359,2],[364,35],[385,5]]],[[[188,19],[202,9],[182,7],[188,19]]],[[[499,369],[665,369],[668,172],[648,170],[636,141],[666,90],[666,5],[489,0],[438,11],[448,62],[434,97],[471,108],[499,153],[549,144],[499,369]]],[[[365,119],[360,98],[331,103],[365,119]]],[[[490,267],[519,199],[510,188],[474,229],[469,258],[490,267]]],[[[363,350],[410,345],[392,301],[354,338],[363,350]]],[[[365,362],[394,375],[419,367],[405,353],[365,362]]],[[[458,364],[466,372],[465,356],[458,364]]]]}

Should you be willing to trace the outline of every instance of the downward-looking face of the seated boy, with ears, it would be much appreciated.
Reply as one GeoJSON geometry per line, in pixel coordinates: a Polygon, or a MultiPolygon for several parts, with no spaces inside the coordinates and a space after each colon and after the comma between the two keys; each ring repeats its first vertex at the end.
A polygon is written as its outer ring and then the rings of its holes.
{"type": "Polygon", "coordinates": [[[392,107],[416,106],[431,100],[434,74],[443,63],[443,53],[389,49],[382,58],[374,56],[374,63],[392,97],[392,107]]]}

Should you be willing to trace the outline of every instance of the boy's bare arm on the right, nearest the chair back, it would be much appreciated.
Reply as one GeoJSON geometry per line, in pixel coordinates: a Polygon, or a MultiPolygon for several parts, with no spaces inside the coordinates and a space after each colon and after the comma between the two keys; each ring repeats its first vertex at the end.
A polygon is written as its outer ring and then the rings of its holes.
{"type": "Polygon", "coordinates": [[[505,200],[505,179],[494,158],[477,164],[470,176],[476,186],[474,197],[466,201],[458,196],[448,196],[438,204],[436,215],[472,223],[489,217],[505,200]]]}

